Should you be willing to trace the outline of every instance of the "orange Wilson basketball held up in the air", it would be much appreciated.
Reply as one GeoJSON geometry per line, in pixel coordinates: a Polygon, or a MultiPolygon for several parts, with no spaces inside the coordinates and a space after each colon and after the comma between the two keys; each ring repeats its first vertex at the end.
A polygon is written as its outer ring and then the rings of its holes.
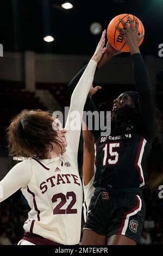
{"type": "MultiPolygon", "coordinates": [[[[118,29],[115,28],[115,26],[123,28],[122,23],[120,22],[120,20],[118,20],[119,18],[121,18],[122,20],[124,20],[127,23],[130,23],[129,20],[127,19],[127,15],[132,20],[134,20],[134,26],[135,26],[135,16],[134,15],[120,14],[120,15],[114,17],[114,19],[112,19],[110,21],[110,23],[108,25],[108,29],[107,29],[107,36],[108,36],[108,41],[109,41],[110,45],[120,52],[129,52],[130,50],[127,45],[126,39],[124,38],[124,35],[121,32],[119,32],[118,29]]],[[[142,22],[138,18],[137,18],[137,20],[139,22],[138,34],[141,35],[143,32],[145,32],[145,29],[142,25],[142,22]]],[[[141,45],[142,41],[143,41],[143,38],[139,42],[138,46],[141,45]]]]}

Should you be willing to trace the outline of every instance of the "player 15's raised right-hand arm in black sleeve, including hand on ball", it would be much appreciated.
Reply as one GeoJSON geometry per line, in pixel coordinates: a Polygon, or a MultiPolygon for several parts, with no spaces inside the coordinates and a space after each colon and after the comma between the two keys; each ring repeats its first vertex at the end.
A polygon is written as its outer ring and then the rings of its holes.
{"type": "Polygon", "coordinates": [[[141,132],[143,137],[152,144],[156,132],[156,118],[155,118],[155,106],[153,101],[153,93],[151,88],[151,82],[149,74],[140,54],[137,44],[144,36],[138,35],[139,23],[136,19],[136,25],[134,21],[128,16],[130,21],[130,27],[126,22],[121,20],[125,29],[117,27],[118,30],[124,33],[126,42],[130,48],[131,60],[133,63],[135,86],[139,94],[140,113],[141,113],[141,132]]]}

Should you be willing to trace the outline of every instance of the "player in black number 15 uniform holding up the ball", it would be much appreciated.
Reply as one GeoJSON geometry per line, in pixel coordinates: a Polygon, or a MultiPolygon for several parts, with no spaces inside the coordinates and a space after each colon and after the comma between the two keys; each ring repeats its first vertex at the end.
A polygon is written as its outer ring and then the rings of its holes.
{"type": "MultiPolygon", "coordinates": [[[[83,245],[136,245],[145,218],[141,190],[145,185],[143,170],[156,133],[155,107],[146,65],[137,46],[141,39],[138,22],[134,26],[133,20],[128,19],[130,27],[121,20],[124,29],[117,29],[124,34],[130,48],[137,92],[123,93],[114,100],[109,136],[101,137],[101,131],[91,131],[97,144],[95,192],[84,227],[83,245]]],[[[112,50],[112,56],[115,54],[112,50]]],[[[105,54],[103,61],[107,58],[105,54]]],[[[69,84],[70,92],[84,69],[69,84]]],[[[96,110],[90,97],[84,110],[96,110]]]]}

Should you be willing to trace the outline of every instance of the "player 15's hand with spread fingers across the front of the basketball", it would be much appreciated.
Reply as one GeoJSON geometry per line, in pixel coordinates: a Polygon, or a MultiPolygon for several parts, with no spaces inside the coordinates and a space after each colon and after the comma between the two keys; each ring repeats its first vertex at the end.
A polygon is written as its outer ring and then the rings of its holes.
{"type": "Polygon", "coordinates": [[[139,22],[137,21],[136,17],[136,24],[134,26],[134,20],[132,20],[129,16],[127,16],[130,26],[128,25],[127,22],[124,22],[122,19],[120,19],[123,28],[120,28],[116,26],[118,31],[124,34],[124,37],[126,38],[126,42],[130,48],[130,51],[133,50],[133,48],[139,48],[137,45],[139,44],[140,40],[145,36],[143,33],[142,35],[139,35],[138,33],[138,27],[139,27],[139,22]]]}

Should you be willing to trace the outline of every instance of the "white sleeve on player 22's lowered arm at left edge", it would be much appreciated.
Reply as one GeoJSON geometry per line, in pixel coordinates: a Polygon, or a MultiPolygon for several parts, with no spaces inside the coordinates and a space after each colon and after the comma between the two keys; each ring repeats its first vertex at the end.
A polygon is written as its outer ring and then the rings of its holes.
{"type": "Polygon", "coordinates": [[[31,167],[24,168],[26,161],[28,160],[17,163],[0,181],[0,202],[10,197],[21,187],[26,187],[29,183],[32,178],[32,169],[31,167]]]}

